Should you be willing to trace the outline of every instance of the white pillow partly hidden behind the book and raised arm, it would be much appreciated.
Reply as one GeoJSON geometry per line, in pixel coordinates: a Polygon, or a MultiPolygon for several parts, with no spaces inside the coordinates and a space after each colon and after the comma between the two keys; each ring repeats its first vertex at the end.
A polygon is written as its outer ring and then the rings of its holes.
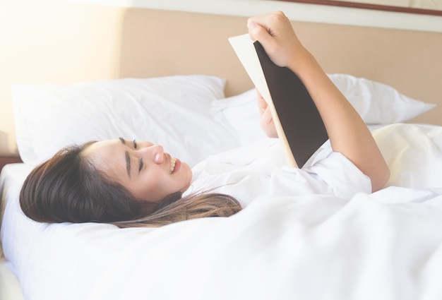
{"type": "MultiPolygon", "coordinates": [[[[388,85],[365,78],[346,74],[331,74],[329,77],[366,124],[393,124],[407,121],[436,106],[414,100],[388,85]]],[[[230,130],[239,134],[241,143],[247,143],[263,135],[259,127],[254,89],[214,101],[211,112],[214,119],[229,124],[230,130]]]]}

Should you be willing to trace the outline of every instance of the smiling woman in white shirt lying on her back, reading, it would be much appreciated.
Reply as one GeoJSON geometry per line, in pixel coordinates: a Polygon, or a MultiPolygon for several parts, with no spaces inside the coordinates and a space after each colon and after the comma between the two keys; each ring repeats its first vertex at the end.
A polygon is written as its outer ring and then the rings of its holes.
{"type": "MultiPolygon", "coordinates": [[[[277,139],[210,157],[193,170],[160,145],[124,138],[66,148],[25,180],[20,205],[40,222],[114,222],[161,226],[229,216],[258,196],[333,194],[350,198],[382,188],[389,170],[352,105],[297,39],[281,12],[250,18],[249,34],[270,59],[297,73],[324,121],[330,147],[302,169],[285,166],[277,139]],[[233,157],[233,158],[232,158],[233,157]],[[216,193],[215,193],[216,191],[216,193]]],[[[261,99],[261,127],[276,137],[261,99]]]]}

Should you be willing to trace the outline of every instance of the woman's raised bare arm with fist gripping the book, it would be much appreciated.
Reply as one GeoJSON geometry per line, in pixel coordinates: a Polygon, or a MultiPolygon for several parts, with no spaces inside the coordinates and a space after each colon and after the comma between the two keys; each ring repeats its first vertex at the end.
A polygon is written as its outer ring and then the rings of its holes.
{"type": "Polygon", "coordinates": [[[316,59],[299,42],[291,23],[278,11],[249,19],[249,34],[278,66],[299,76],[318,108],[333,151],[340,152],[370,177],[372,191],[386,184],[390,170],[369,129],[335,87],[316,59]]]}

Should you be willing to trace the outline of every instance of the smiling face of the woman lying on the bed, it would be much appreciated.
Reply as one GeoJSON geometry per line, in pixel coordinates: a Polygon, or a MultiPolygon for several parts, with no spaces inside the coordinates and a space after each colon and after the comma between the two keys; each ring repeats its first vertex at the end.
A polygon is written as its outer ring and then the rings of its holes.
{"type": "Polygon", "coordinates": [[[83,155],[109,179],[145,201],[159,203],[171,193],[186,191],[192,179],[188,164],[146,141],[103,140],[88,146],[83,155]]]}

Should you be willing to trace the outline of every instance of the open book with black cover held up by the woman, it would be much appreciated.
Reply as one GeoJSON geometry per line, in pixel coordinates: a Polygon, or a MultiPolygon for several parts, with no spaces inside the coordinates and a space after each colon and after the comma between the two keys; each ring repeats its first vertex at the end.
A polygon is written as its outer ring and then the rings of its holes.
{"type": "Polygon", "coordinates": [[[328,140],[309,92],[289,68],[273,64],[262,45],[248,34],[230,37],[229,42],[270,107],[289,165],[301,168],[328,140]]]}

